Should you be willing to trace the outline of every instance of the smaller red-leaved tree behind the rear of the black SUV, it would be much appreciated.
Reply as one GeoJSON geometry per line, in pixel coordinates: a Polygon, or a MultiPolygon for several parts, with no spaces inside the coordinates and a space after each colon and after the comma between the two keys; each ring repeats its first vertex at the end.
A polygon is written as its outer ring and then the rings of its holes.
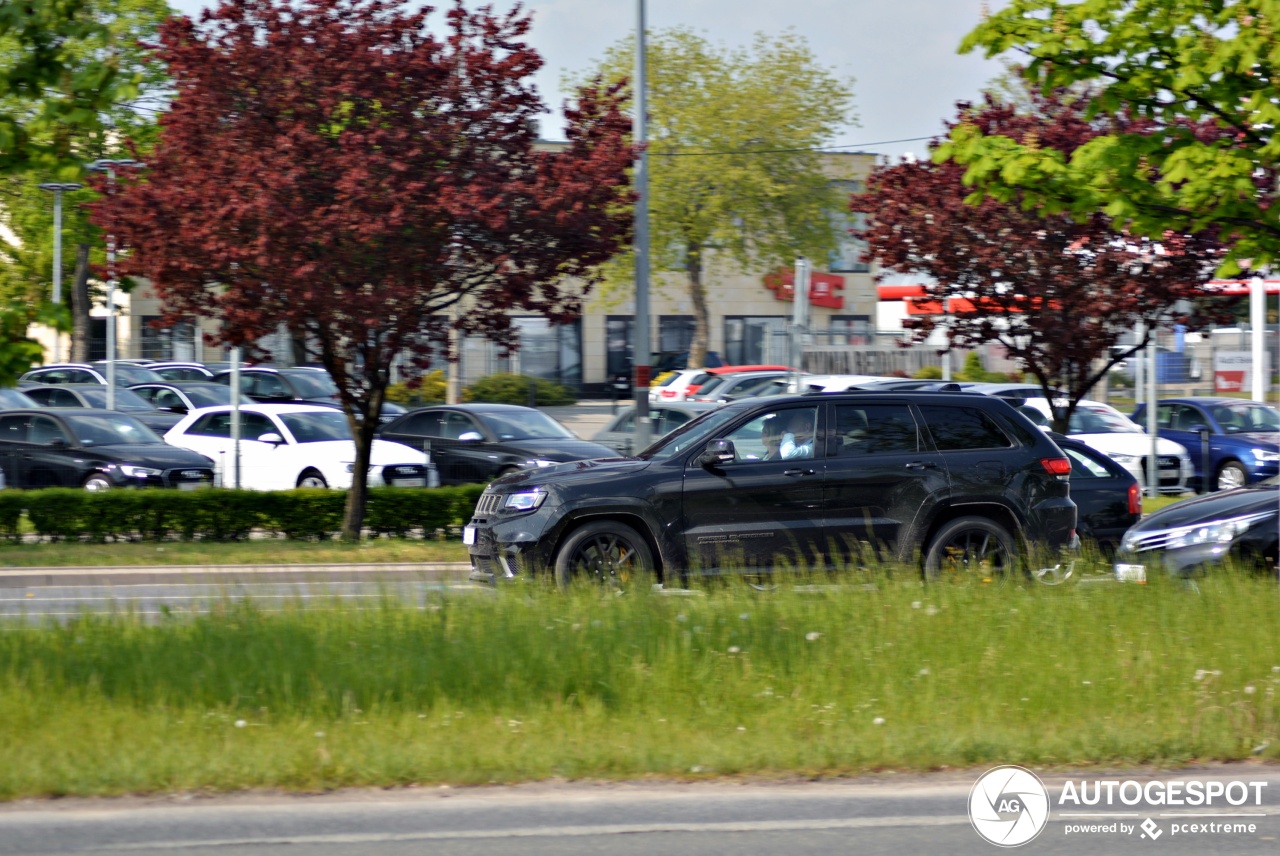
{"type": "MultiPolygon", "coordinates": [[[[1006,134],[1070,155],[1103,128],[1138,123],[1087,118],[1084,101],[1029,96],[1019,110],[995,99],[960,105],[960,122],[987,134],[1006,134]]],[[[933,151],[940,143],[933,143],[933,151]]],[[[901,162],[877,168],[852,210],[868,215],[868,256],[882,267],[924,274],[942,319],[919,316],[911,338],[922,342],[940,324],[952,345],[1002,344],[1047,398],[1065,393],[1055,426],[1065,430],[1076,402],[1120,360],[1135,353],[1158,326],[1196,326],[1228,315],[1201,287],[1221,262],[1212,235],[1164,234],[1156,239],[1117,233],[1108,216],[1083,220],[1044,216],[1034,206],[984,198],[974,203],[965,168],[951,162],[901,162]],[[1128,349],[1121,335],[1138,324],[1146,334],[1128,349]]]]}

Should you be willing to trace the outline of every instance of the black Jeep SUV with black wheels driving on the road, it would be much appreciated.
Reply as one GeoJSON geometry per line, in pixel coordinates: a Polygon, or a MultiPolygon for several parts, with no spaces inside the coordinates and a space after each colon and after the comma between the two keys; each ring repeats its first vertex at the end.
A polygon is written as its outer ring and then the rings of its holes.
{"type": "Polygon", "coordinates": [[[634,458],[494,481],[463,541],[477,580],[676,582],[887,559],[919,560],[928,577],[1051,581],[1076,543],[1070,472],[1043,431],[989,395],[744,399],[634,458]],[[812,440],[794,436],[804,424],[812,440]]]}

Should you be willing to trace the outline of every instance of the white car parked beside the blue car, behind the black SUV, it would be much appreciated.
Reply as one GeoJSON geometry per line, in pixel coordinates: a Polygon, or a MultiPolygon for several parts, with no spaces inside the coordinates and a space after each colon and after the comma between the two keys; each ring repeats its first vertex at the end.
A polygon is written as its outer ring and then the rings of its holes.
{"type": "MultiPolygon", "coordinates": [[[[1064,402],[1065,403],[1065,402],[1064,402]]],[[[1047,426],[1053,417],[1053,409],[1044,398],[1028,398],[1023,406],[1032,408],[1043,417],[1032,421],[1047,426]]],[[[1140,425],[1116,408],[1103,402],[1080,399],[1071,413],[1068,426],[1069,435],[1107,456],[1133,473],[1138,484],[1147,487],[1147,456],[1151,454],[1151,435],[1140,425]]],[[[1187,447],[1164,438],[1156,440],[1156,458],[1160,472],[1160,491],[1180,494],[1189,490],[1188,481],[1196,468],[1187,447]]]]}

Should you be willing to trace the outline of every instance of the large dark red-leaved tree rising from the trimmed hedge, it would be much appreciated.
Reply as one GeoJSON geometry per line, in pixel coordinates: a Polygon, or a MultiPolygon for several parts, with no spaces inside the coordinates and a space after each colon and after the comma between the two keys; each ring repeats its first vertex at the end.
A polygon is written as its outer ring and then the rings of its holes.
{"type": "Polygon", "coordinates": [[[568,145],[541,151],[530,17],[457,0],[436,36],[433,10],[406,5],[223,0],[172,18],[160,141],[95,211],[168,317],[218,317],[229,345],[282,324],[310,343],[356,438],[344,537],[393,360],[425,370],[449,328],[504,342],[512,311],[576,317],[631,225],[617,88],[584,88],[568,145]]]}

